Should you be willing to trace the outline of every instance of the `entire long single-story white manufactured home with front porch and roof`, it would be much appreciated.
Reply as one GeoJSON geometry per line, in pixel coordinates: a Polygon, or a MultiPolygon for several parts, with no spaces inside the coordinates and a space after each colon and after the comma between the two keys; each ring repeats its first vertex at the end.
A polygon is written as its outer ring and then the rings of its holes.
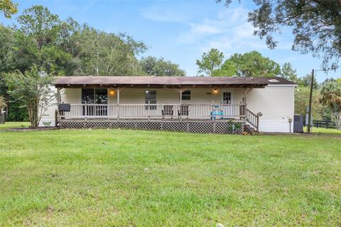
{"type": "Polygon", "coordinates": [[[295,87],[281,77],[59,77],[41,124],[290,133],[295,87]]]}

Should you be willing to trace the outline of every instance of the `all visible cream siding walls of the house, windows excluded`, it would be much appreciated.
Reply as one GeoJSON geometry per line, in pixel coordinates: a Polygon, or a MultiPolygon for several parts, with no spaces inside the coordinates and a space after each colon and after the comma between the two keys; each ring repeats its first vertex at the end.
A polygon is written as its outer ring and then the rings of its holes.
{"type": "MultiPolygon", "coordinates": [[[[294,89],[293,85],[269,85],[265,89],[252,89],[247,94],[247,108],[252,112],[261,112],[263,116],[259,118],[259,131],[283,132],[293,131],[288,119],[293,119],[294,114],[294,89]]],[[[146,90],[156,90],[158,104],[178,104],[179,95],[175,89],[144,89],[144,88],[124,88],[120,92],[120,104],[145,104],[146,90]]],[[[232,104],[241,104],[244,97],[244,89],[217,89],[215,88],[190,88],[190,100],[183,100],[183,104],[220,104],[222,92],[232,92],[232,104]]],[[[65,104],[81,104],[82,89],[62,89],[60,91],[61,102],[65,104]]],[[[109,89],[108,89],[109,91],[109,89]]],[[[108,94],[109,104],[117,104],[117,90],[114,95],[108,94]]],[[[57,101],[53,101],[45,116],[40,121],[50,122],[55,126],[55,109],[57,101]]]]}

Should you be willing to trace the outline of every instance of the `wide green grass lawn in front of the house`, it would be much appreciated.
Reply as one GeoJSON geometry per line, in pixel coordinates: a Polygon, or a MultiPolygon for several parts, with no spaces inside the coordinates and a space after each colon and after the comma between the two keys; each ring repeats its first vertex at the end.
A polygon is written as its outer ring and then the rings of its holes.
{"type": "Polygon", "coordinates": [[[0,226],[341,226],[341,136],[0,131],[0,185],[0,226]]]}

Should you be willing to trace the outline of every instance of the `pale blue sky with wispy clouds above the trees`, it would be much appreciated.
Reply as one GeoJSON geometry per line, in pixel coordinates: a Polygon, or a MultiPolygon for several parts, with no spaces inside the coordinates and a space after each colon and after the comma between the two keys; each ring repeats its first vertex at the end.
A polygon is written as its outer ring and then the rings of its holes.
{"type": "MultiPolygon", "coordinates": [[[[217,48],[230,55],[257,50],[262,55],[283,65],[290,62],[298,76],[318,70],[322,60],[312,55],[301,55],[291,50],[293,35],[286,28],[277,35],[278,47],[269,50],[264,40],[253,35],[254,28],[247,22],[247,13],[254,9],[251,1],[234,1],[228,8],[215,0],[14,0],[19,12],[11,19],[0,16],[4,25],[16,23],[23,9],[40,4],[47,6],[61,19],[74,18],[79,23],[108,33],[124,32],[148,45],[138,56],[164,57],[180,65],[188,76],[197,74],[195,60],[203,52],[217,48]]],[[[340,77],[341,71],[317,72],[318,82],[328,77],[340,77]]]]}

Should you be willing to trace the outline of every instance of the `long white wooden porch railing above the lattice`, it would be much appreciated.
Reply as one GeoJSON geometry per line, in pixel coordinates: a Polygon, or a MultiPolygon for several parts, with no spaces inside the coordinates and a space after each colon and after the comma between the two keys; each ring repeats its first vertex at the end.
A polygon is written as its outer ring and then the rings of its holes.
{"type": "Polygon", "coordinates": [[[246,104],[70,104],[60,118],[244,118],[246,104]]]}

